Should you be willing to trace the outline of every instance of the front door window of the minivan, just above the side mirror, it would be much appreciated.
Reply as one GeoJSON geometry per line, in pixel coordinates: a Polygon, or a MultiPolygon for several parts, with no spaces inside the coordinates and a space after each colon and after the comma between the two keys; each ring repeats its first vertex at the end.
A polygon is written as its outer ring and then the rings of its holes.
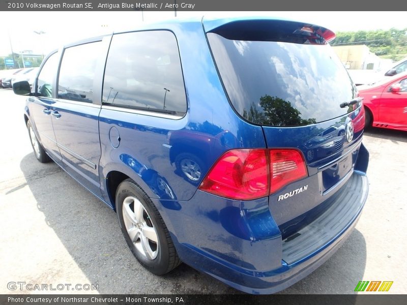
{"type": "Polygon", "coordinates": [[[41,97],[52,97],[53,82],[58,69],[59,53],[53,53],[48,57],[44,66],[41,69],[40,75],[38,75],[37,93],[41,97]]]}

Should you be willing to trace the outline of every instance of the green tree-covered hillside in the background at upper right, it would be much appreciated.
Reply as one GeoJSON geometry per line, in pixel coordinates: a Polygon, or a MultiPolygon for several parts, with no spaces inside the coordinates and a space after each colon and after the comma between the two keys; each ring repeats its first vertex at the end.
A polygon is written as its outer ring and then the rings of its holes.
{"type": "Polygon", "coordinates": [[[364,44],[370,51],[382,58],[394,61],[407,57],[407,27],[403,29],[391,28],[388,31],[338,32],[331,45],[364,44]]]}

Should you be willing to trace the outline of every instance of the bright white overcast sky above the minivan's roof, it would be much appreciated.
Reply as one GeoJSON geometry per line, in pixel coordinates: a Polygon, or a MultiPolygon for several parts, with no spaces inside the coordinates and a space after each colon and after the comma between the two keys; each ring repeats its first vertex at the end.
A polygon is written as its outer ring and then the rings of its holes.
{"type": "MultiPolygon", "coordinates": [[[[177,18],[242,15],[276,16],[338,31],[406,28],[405,12],[177,12],[177,18]]],[[[172,19],[173,12],[0,12],[0,56],[32,50],[45,55],[64,43],[136,28],[138,23],[172,19]],[[142,16],[143,14],[143,16],[142,16]],[[144,21],[142,21],[144,18],[144,21]],[[36,32],[45,32],[38,35],[36,32]]]]}

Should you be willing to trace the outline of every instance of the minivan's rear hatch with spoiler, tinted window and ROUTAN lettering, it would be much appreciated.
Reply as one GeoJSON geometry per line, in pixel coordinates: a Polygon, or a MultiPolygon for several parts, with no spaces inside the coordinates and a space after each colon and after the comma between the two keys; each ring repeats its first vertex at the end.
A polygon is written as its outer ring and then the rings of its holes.
{"type": "Polygon", "coordinates": [[[285,20],[204,25],[231,106],[260,125],[268,148],[276,149],[273,178],[301,166],[284,160],[280,149],[302,155],[305,177],[274,189],[272,181],[269,196],[287,238],[324,214],[330,206],[323,203],[353,174],[364,126],[356,87],[326,28],[285,20]]]}

